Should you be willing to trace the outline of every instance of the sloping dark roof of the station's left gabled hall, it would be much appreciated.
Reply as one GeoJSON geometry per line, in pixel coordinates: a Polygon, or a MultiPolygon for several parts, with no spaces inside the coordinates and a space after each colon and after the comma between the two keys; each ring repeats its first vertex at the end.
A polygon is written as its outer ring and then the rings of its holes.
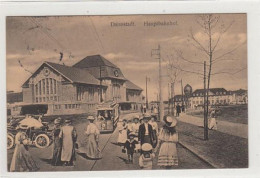
{"type": "Polygon", "coordinates": [[[45,63],[51,66],[54,70],[59,72],[64,77],[68,78],[73,83],[83,83],[92,85],[100,84],[100,81],[96,79],[94,76],[92,76],[87,70],[60,65],[52,62],[45,63]]]}

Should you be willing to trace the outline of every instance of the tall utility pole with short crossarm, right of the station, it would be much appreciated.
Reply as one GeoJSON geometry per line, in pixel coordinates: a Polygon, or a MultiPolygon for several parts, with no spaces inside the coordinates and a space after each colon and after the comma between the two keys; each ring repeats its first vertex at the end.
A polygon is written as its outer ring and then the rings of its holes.
{"type": "Polygon", "coordinates": [[[159,60],[159,100],[160,100],[160,120],[163,121],[163,115],[164,115],[164,106],[163,106],[163,98],[162,98],[162,74],[161,74],[161,49],[160,45],[158,45],[158,49],[152,49],[151,52],[152,56],[156,56],[156,59],[159,60]]]}

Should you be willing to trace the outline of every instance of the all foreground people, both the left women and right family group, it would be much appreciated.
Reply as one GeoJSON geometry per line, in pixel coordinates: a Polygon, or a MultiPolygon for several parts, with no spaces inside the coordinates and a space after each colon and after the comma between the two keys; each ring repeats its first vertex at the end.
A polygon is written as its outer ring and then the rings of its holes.
{"type": "MultiPolygon", "coordinates": [[[[101,159],[99,148],[99,129],[94,124],[93,116],[87,117],[88,124],[84,131],[84,139],[79,148],[77,131],[70,119],[63,121],[60,117],[54,120],[52,130],[53,148],[51,164],[53,166],[74,166],[76,150],[85,153],[88,159],[101,159]]],[[[139,166],[142,169],[152,169],[153,160],[158,152],[157,165],[165,168],[178,165],[176,143],[178,133],[176,131],[177,120],[172,116],[164,116],[164,126],[159,129],[158,124],[151,115],[145,113],[142,117],[136,116],[133,120],[120,121],[118,123],[118,144],[122,151],[128,155],[128,162],[132,164],[134,154],[139,153],[139,166]]],[[[10,165],[12,172],[37,171],[39,166],[32,158],[24,128],[18,126],[15,136],[15,150],[10,165]]]]}

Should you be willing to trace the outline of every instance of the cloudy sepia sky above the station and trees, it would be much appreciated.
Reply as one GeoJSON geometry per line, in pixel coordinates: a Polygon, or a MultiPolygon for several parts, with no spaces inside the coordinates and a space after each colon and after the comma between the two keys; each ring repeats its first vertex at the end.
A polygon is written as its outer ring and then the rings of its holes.
{"type": "MultiPolygon", "coordinates": [[[[213,58],[211,88],[247,89],[247,20],[246,14],[214,14],[219,17],[212,30],[213,45],[218,45],[213,58]],[[221,35],[221,28],[228,30],[221,35]]],[[[100,54],[117,65],[124,76],[145,90],[148,98],[158,94],[159,60],[151,56],[160,45],[162,60],[163,99],[168,97],[169,74],[178,72],[175,94],[183,86],[203,88],[203,61],[209,57],[189,40],[194,37],[207,49],[208,36],[200,26],[199,15],[127,15],[127,16],[50,16],[6,18],[7,90],[21,91],[21,85],[44,62],[73,65],[89,55],[100,54]],[[145,26],[145,22],[174,22],[168,26],[145,26]],[[113,23],[134,22],[135,26],[111,26],[113,23]],[[180,57],[180,53],[182,55],[180,57]],[[19,64],[19,61],[21,64],[19,64]],[[170,62],[169,62],[170,61],[170,62]],[[191,62],[192,61],[192,62],[191,62]],[[168,70],[169,63],[173,70],[168,70]],[[29,72],[28,72],[29,71],[29,72]]],[[[208,67],[207,67],[208,70],[208,67]]],[[[143,93],[145,95],[145,93],[143,93]]]]}

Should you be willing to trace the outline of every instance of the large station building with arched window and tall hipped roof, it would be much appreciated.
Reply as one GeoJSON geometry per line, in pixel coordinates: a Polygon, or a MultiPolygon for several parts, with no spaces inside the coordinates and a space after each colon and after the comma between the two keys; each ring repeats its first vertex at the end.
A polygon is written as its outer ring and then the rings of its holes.
{"type": "Polygon", "coordinates": [[[46,104],[48,114],[95,111],[101,102],[142,101],[142,89],[100,55],[73,66],[44,62],[22,85],[23,103],[46,104]]]}

